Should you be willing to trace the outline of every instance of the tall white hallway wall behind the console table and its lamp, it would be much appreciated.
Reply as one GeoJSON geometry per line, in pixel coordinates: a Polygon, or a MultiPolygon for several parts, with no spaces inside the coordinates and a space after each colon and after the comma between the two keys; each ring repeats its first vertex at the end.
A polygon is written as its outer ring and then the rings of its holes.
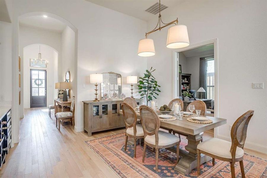
{"type": "MultiPolygon", "coordinates": [[[[58,63],[58,78],[59,82],[65,82],[66,71],[71,74],[71,88],[74,80],[74,66],[75,66],[75,33],[70,27],[66,27],[61,33],[61,59],[58,63]]],[[[74,96],[71,90],[71,98],[74,96]]]]}

